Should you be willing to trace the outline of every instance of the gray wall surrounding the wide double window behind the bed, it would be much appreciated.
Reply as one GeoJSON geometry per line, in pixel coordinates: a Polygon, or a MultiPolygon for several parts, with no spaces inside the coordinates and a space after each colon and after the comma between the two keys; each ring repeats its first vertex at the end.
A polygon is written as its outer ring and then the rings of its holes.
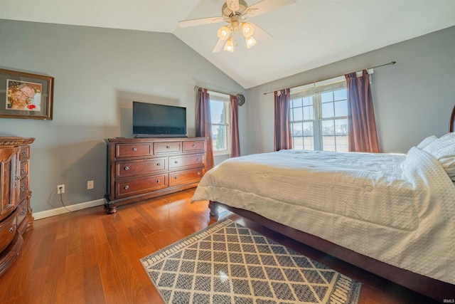
{"type": "MultiPolygon", "coordinates": [[[[302,55],[303,56],[303,55],[302,55]]],[[[373,103],[381,152],[410,150],[424,137],[444,135],[455,104],[455,27],[380,48],[247,90],[247,154],[271,152],[274,96],[264,92],[344,75],[390,61],[373,74],[373,103]]]]}

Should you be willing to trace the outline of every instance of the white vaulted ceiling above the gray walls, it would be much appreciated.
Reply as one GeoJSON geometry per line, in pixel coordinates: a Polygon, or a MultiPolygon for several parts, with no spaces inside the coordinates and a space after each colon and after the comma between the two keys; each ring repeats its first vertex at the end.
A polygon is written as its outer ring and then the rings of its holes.
{"type": "Polygon", "coordinates": [[[274,38],[234,53],[212,53],[223,23],[178,28],[224,2],[0,0],[0,19],[173,33],[245,89],[455,25],[455,0],[297,0],[249,18],[274,38]]]}

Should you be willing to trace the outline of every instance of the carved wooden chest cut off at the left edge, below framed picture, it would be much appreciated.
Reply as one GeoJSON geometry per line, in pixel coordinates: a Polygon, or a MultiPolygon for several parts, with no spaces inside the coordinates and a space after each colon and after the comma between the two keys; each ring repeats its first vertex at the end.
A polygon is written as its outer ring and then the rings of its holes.
{"type": "Polygon", "coordinates": [[[34,138],[0,137],[0,276],[16,260],[33,226],[28,163],[34,138]]]}

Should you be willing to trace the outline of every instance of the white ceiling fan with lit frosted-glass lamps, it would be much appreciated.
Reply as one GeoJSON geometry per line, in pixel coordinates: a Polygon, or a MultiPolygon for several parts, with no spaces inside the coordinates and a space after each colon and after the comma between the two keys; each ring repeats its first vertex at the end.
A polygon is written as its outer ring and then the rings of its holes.
{"type": "Polygon", "coordinates": [[[200,26],[203,24],[225,21],[228,24],[218,29],[218,42],[215,44],[215,48],[213,48],[212,52],[216,53],[221,51],[223,45],[225,51],[233,52],[234,42],[232,41],[232,38],[236,32],[245,37],[247,48],[251,48],[257,43],[255,37],[253,36],[254,33],[257,34],[257,38],[272,38],[272,35],[264,31],[262,28],[259,28],[259,26],[255,23],[246,21],[247,17],[258,16],[295,2],[296,0],[262,0],[252,6],[248,6],[247,2],[244,0],[226,0],[225,4],[223,4],[223,7],[221,8],[220,17],[178,21],[178,26],[184,28],[188,26],[200,26]]]}

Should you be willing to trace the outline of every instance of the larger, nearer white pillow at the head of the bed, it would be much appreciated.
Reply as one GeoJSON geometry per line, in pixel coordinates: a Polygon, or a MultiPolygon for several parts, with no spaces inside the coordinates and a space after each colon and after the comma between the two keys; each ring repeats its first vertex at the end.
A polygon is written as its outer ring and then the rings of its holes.
{"type": "Polygon", "coordinates": [[[455,182],[455,133],[447,133],[430,142],[422,150],[432,154],[441,162],[452,182],[455,182]]]}

